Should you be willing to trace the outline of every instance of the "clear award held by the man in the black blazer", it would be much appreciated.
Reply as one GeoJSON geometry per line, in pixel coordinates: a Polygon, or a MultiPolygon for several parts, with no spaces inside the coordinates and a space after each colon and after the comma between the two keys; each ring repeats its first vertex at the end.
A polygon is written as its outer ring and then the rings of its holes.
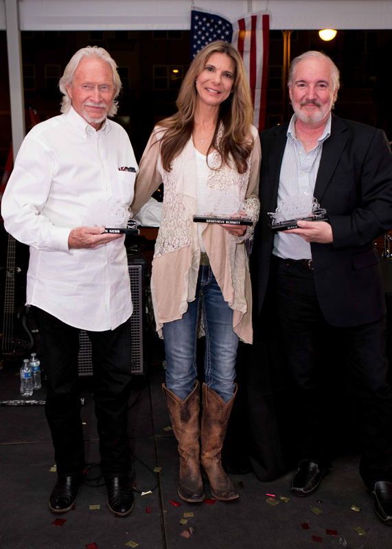
{"type": "Polygon", "coordinates": [[[299,193],[287,196],[279,202],[275,213],[268,212],[273,231],[298,229],[297,221],[328,221],[327,210],[321,208],[312,193],[299,193]]]}

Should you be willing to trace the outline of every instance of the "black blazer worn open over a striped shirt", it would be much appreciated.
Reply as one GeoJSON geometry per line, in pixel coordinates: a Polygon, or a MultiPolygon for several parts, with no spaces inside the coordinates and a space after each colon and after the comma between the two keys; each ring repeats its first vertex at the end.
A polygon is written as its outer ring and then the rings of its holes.
{"type": "MultiPolygon", "coordinates": [[[[260,314],[268,283],[288,123],[260,134],[260,220],[251,255],[253,307],[260,314]]],[[[327,210],[333,244],[311,243],[314,283],[323,315],[334,326],[356,326],[386,314],[380,257],[373,240],[392,228],[392,155],[387,136],[332,115],[314,196],[327,210]]]]}

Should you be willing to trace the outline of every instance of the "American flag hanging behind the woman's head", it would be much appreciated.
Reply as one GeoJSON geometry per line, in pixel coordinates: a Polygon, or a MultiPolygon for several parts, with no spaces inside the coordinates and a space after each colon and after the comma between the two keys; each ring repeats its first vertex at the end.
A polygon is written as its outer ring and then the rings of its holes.
{"type": "Polygon", "coordinates": [[[233,25],[215,14],[192,10],[191,60],[210,42],[224,40],[238,49],[244,61],[255,108],[253,124],[264,130],[269,45],[269,15],[249,14],[233,25]]]}

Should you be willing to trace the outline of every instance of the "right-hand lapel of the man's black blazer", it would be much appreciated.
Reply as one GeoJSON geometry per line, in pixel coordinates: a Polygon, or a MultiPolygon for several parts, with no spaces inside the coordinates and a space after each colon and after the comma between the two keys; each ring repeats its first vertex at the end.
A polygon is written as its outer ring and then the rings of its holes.
{"type": "Polygon", "coordinates": [[[314,187],[314,197],[317,202],[321,202],[324,196],[325,189],[330,183],[348,139],[347,126],[343,124],[340,118],[332,115],[331,135],[323,143],[323,153],[321,154],[319,172],[317,172],[314,187]]]}

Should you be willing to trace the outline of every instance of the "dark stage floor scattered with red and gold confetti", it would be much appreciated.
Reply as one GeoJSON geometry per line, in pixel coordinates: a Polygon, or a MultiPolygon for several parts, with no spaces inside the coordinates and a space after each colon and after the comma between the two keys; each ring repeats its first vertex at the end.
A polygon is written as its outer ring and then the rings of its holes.
{"type": "MultiPolygon", "coordinates": [[[[18,367],[8,363],[0,371],[0,400],[20,398],[18,367]]],[[[75,510],[51,513],[48,498],[56,473],[50,471],[54,450],[43,406],[0,408],[1,548],[84,549],[95,544],[97,549],[307,549],[320,541],[324,547],[345,547],[341,538],[345,538],[349,549],[389,546],[392,530],[373,513],[371,497],[358,474],[358,456],[334,460],[332,473],[308,498],[290,494],[290,471],[268,483],[259,482],[253,473],[233,476],[237,486],[241,483],[240,498],[233,502],[182,502],[176,490],[176,440],[172,431],[165,430],[170,420],[161,389],[163,381],[161,364],[153,364],[129,418],[136,487],[149,491],[156,481],[158,486],[150,494],[137,493],[134,511],[124,518],[111,515],[105,493],[87,485],[80,487],[75,510]],[[151,473],[138,460],[150,469],[161,467],[161,471],[151,473]],[[268,494],[275,495],[273,499],[279,504],[268,504],[268,494]],[[288,502],[279,496],[289,498],[288,502]],[[172,500],[181,506],[174,506],[172,500]],[[360,507],[360,511],[353,511],[351,506],[360,507]],[[312,509],[322,512],[316,514],[312,509]],[[189,512],[194,516],[187,517],[185,525],[180,524],[184,513],[189,512]],[[66,522],[54,526],[56,518],[66,522]],[[303,529],[305,523],[309,528],[303,529]],[[181,533],[188,526],[194,534],[185,539],[181,533]],[[359,535],[357,527],[365,535],[359,535]]],[[[142,376],[135,377],[130,404],[142,383],[142,376]]],[[[81,379],[81,385],[87,460],[96,463],[99,453],[89,379],[81,379]]],[[[45,399],[45,390],[34,397],[45,399]]],[[[211,498],[208,484],[205,493],[211,498]]]]}

